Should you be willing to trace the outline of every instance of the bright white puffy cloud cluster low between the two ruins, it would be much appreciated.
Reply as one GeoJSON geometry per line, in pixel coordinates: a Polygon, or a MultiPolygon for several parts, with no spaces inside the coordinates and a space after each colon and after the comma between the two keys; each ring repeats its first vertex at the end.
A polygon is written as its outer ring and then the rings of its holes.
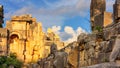
{"type": "Polygon", "coordinates": [[[62,41],[66,43],[70,43],[77,40],[78,35],[81,33],[87,33],[84,29],[81,27],[78,27],[76,30],[74,30],[71,26],[65,26],[64,31],[61,32],[60,26],[53,26],[52,31],[56,34],[58,34],[62,41]]]}

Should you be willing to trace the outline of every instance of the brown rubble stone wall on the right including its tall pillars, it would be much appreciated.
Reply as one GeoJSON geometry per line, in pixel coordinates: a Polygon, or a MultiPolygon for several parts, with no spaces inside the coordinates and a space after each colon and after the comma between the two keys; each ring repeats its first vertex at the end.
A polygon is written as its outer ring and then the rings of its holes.
{"type": "Polygon", "coordinates": [[[68,63],[72,68],[86,68],[86,66],[88,66],[87,68],[120,67],[119,1],[116,0],[112,14],[105,11],[105,0],[91,0],[92,34],[80,34],[77,42],[70,44],[70,47],[74,48],[65,49],[69,50],[68,63]],[[74,43],[76,44],[74,45],[74,43]]]}

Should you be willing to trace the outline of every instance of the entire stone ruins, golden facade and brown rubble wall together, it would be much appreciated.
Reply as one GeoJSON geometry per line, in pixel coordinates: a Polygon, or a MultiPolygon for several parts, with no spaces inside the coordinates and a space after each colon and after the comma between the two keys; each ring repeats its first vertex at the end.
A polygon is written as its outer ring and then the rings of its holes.
{"type": "Polygon", "coordinates": [[[91,0],[92,33],[68,45],[50,28],[44,33],[32,16],[13,16],[0,28],[0,55],[15,53],[23,68],[120,68],[119,8],[120,0],[113,13],[106,12],[106,0],[91,0]]]}

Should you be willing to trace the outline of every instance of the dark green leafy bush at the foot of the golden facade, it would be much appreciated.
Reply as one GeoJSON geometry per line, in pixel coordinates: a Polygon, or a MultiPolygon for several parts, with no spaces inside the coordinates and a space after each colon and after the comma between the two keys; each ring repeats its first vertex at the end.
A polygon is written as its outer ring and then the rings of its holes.
{"type": "Polygon", "coordinates": [[[22,62],[16,58],[15,54],[0,57],[0,68],[8,68],[10,65],[14,66],[14,68],[21,68],[22,62]]]}

